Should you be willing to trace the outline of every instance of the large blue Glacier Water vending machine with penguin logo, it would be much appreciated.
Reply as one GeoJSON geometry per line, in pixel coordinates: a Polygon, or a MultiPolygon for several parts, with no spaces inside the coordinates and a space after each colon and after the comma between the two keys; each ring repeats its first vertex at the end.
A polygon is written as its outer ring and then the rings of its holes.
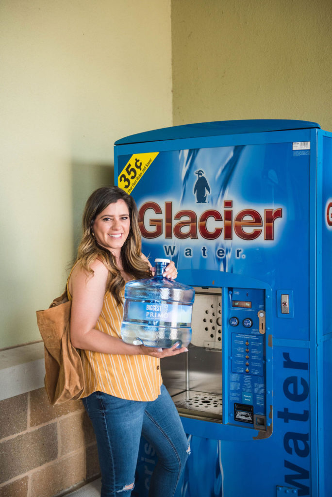
{"type": "MultiPolygon", "coordinates": [[[[221,121],[118,140],[143,252],[195,288],[189,352],[162,361],[191,444],[176,497],[332,495],[332,134],[221,121]]],[[[133,495],[156,457],[142,440],[133,495]]]]}

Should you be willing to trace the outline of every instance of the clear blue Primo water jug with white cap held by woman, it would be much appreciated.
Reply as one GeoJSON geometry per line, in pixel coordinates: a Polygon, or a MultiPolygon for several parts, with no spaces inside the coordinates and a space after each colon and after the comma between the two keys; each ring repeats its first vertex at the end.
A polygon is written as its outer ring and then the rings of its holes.
{"type": "Polygon", "coordinates": [[[189,344],[195,291],[163,277],[168,263],[156,259],[153,278],[126,283],[121,326],[126,343],[161,348],[189,344]]]}

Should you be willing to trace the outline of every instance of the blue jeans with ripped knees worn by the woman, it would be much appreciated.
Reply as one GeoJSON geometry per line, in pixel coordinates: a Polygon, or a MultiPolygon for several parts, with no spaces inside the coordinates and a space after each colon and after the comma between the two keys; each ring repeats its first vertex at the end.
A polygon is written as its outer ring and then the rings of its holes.
{"type": "Polygon", "coordinates": [[[152,402],[94,392],[83,399],[83,405],[97,439],[101,497],[131,495],[141,434],[158,455],[149,497],[172,497],[190,449],[165,386],[152,402]]]}

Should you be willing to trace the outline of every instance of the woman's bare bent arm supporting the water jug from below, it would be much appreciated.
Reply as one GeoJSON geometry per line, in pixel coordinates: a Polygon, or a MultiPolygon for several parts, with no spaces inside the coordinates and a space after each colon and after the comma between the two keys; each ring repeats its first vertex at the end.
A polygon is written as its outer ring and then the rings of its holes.
{"type": "Polygon", "coordinates": [[[103,306],[108,270],[104,264],[95,260],[91,264],[93,275],[87,274],[78,264],[70,278],[72,294],[71,341],[74,347],[104,354],[146,354],[166,357],[185,352],[186,349],[156,349],[143,345],[131,345],[120,338],[96,330],[95,325],[103,306]]]}

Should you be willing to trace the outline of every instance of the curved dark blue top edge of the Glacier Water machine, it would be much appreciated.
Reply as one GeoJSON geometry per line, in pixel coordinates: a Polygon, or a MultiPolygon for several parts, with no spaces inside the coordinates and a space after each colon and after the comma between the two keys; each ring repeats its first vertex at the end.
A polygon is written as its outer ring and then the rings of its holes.
{"type": "Polygon", "coordinates": [[[121,138],[115,142],[115,145],[312,128],[320,129],[321,126],[312,121],[300,121],[297,119],[240,119],[232,121],[213,121],[182,124],[180,126],[170,126],[167,128],[145,131],[143,133],[121,138]]]}

